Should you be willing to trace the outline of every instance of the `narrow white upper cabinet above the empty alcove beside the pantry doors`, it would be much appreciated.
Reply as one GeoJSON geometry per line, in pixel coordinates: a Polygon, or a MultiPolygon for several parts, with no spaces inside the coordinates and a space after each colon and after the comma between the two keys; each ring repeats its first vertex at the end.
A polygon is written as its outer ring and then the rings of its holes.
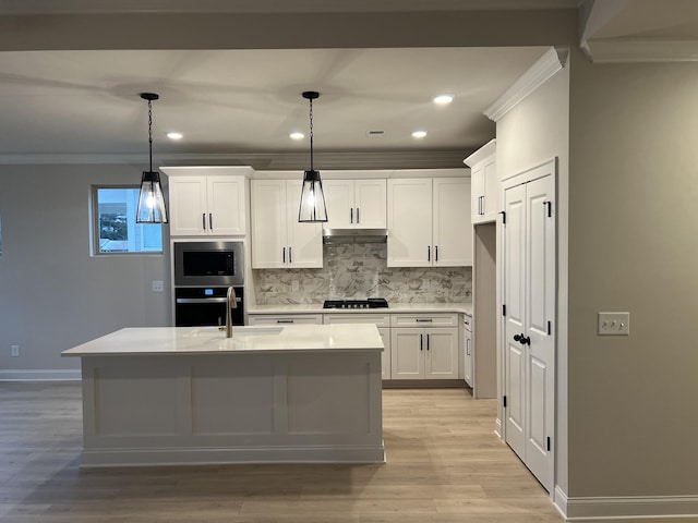
{"type": "Polygon", "coordinates": [[[492,139],[465,159],[472,179],[473,223],[496,221],[500,212],[500,181],[496,171],[496,141],[492,139]]]}

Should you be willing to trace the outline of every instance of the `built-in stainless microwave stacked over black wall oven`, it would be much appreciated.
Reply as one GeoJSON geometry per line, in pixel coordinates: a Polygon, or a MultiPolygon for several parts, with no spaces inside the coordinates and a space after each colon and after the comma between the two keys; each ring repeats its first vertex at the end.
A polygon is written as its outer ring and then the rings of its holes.
{"type": "Polygon", "coordinates": [[[226,323],[226,294],[236,288],[232,325],[244,325],[244,257],[242,242],[176,242],[174,325],[226,323]]]}

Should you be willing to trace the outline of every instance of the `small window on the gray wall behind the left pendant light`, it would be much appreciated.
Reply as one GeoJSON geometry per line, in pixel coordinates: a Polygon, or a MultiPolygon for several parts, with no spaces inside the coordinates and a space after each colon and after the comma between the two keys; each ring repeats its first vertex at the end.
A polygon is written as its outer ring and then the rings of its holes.
{"type": "Polygon", "coordinates": [[[136,223],[139,187],[93,187],[95,254],[163,253],[163,226],[136,223]]]}

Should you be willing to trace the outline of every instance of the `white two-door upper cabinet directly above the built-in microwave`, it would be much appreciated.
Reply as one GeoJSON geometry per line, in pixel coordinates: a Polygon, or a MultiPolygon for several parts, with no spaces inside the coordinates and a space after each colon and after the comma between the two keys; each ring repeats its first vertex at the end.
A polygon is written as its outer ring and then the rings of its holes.
{"type": "Polygon", "coordinates": [[[249,167],[166,167],[172,236],[246,234],[249,167]]]}

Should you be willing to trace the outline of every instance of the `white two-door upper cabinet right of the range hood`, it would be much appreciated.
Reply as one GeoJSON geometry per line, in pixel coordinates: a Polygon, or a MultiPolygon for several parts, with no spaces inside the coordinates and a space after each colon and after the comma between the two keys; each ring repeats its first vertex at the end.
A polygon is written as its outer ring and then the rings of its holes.
{"type": "Polygon", "coordinates": [[[388,267],[472,265],[468,178],[390,179],[387,190],[388,267]]]}

